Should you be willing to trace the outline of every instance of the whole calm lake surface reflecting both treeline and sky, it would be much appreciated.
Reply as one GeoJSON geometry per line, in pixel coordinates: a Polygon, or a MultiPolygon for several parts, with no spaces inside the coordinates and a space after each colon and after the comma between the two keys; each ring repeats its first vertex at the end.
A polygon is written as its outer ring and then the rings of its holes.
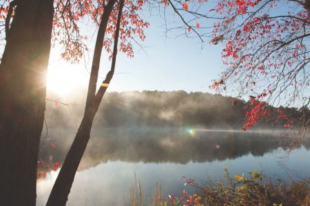
{"type": "MultiPolygon", "coordinates": [[[[54,137],[57,133],[66,131],[55,131],[54,137]]],[[[46,146],[41,158],[45,163],[63,161],[71,141],[72,137],[47,139],[45,145],[52,142],[56,148],[46,146]]],[[[287,157],[278,133],[273,131],[135,127],[94,130],[67,205],[123,205],[123,196],[128,204],[134,174],[141,181],[143,205],[154,196],[156,182],[161,183],[165,196],[180,196],[183,190],[192,190],[180,177],[203,183],[207,177],[223,177],[224,168],[229,168],[231,175],[257,168],[274,178],[299,180],[310,176],[309,148],[307,141],[287,157]]],[[[38,181],[37,205],[45,205],[58,172],[38,181]]]]}

